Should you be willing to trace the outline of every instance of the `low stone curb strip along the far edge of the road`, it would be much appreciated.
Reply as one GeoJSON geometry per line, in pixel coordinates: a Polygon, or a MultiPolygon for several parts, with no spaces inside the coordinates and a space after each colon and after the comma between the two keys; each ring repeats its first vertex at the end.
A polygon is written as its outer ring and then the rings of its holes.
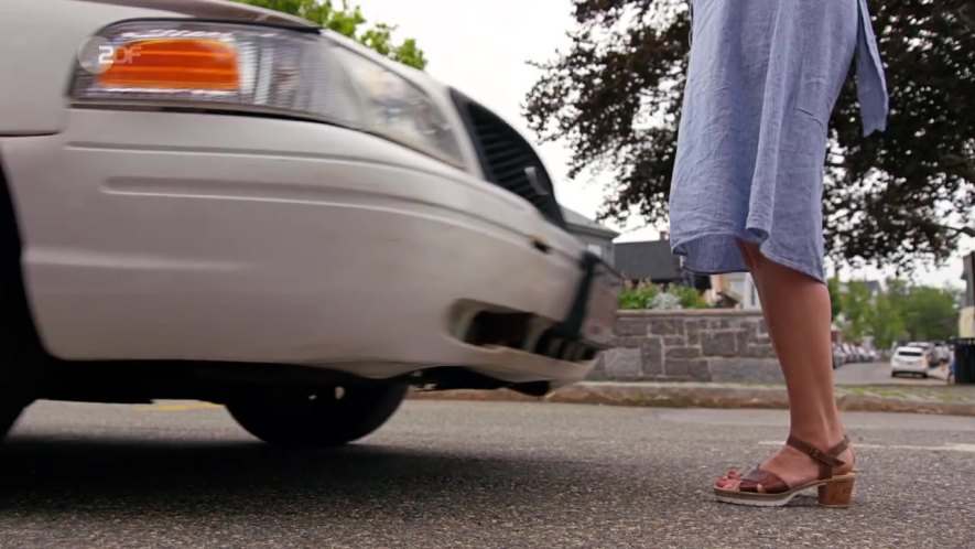
{"type": "MultiPolygon", "coordinates": [[[[842,389],[838,389],[837,392],[837,405],[844,411],[975,417],[975,401],[942,402],[911,398],[844,395],[842,389]]],[[[411,390],[410,398],[420,400],[563,402],[659,408],[789,408],[786,389],[782,387],[715,386],[708,384],[582,383],[555,389],[544,397],[529,397],[508,389],[411,390]]]]}

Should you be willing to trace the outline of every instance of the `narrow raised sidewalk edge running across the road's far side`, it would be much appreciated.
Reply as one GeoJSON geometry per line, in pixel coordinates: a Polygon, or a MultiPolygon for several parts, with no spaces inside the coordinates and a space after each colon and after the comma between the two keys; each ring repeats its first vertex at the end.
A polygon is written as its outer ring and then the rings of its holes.
{"type": "MultiPolygon", "coordinates": [[[[837,386],[841,410],[913,412],[975,417],[975,385],[837,386]]],[[[528,397],[507,389],[413,391],[411,398],[512,400],[667,408],[787,408],[781,385],[707,383],[584,381],[545,397],[528,397]]]]}

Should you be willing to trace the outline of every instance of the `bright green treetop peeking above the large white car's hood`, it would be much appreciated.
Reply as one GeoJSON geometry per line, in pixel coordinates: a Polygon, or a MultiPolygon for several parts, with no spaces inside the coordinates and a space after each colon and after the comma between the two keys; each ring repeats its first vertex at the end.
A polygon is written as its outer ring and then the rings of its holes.
{"type": "Polygon", "coordinates": [[[426,57],[416,46],[415,40],[405,39],[399,44],[393,43],[392,32],[396,31],[396,26],[386,23],[377,23],[370,29],[360,29],[367,21],[362,15],[362,10],[358,6],[349,8],[348,3],[343,2],[342,9],[338,9],[333,6],[332,0],[237,1],[307,19],[313,23],[354,39],[357,42],[376,50],[380,54],[391,60],[399,61],[404,65],[410,65],[420,69],[426,67],[426,57]]]}

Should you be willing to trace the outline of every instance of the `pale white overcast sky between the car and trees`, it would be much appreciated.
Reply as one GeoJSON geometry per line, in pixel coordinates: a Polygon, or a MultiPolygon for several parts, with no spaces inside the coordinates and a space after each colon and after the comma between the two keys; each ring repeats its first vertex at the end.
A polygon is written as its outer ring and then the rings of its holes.
{"type": "MultiPolygon", "coordinates": [[[[521,105],[541,72],[528,64],[555,57],[570,44],[574,26],[571,0],[355,0],[369,23],[397,25],[397,37],[413,37],[423,50],[426,72],[484,104],[538,146],[563,206],[595,217],[604,202],[600,184],[570,181],[568,150],[561,143],[539,144],[521,116],[521,105]]],[[[653,219],[633,219],[629,226],[607,223],[622,235],[617,241],[659,237],[653,219]]],[[[665,228],[665,227],[663,227],[665,228]]],[[[964,254],[975,251],[975,239],[961,243],[942,267],[918,265],[914,280],[932,286],[963,286],[964,254]]],[[[839,270],[844,279],[884,279],[887,269],[839,270]]]]}

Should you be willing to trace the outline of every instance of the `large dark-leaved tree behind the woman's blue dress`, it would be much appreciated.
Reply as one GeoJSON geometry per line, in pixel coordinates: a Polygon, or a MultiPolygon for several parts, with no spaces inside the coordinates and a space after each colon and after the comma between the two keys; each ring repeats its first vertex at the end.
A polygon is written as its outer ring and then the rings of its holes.
{"type": "MultiPolygon", "coordinates": [[[[841,261],[941,260],[975,235],[975,8],[972,0],[873,0],[891,90],[885,133],[862,137],[854,83],[831,120],[824,211],[841,261]],[[967,225],[965,225],[967,223],[967,225]]],[[[686,0],[575,0],[572,45],[524,115],[564,140],[570,176],[616,182],[600,216],[665,217],[689,52],[686,0]]]]}

